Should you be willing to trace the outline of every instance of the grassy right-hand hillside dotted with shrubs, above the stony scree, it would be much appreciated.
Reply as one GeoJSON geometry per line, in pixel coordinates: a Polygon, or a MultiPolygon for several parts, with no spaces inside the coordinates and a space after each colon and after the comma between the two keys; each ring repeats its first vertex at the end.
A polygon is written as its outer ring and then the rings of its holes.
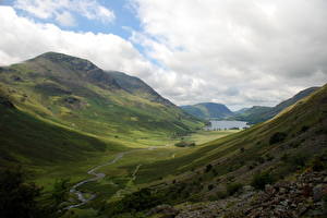
{"type": "MultiPolygon", "coordinates": [[[[217,199],[228,195],[233,184],[250,184],[261,174],[269,179],[265,182],[274,182],[312,166],[314,159],[326,157],[326,144],[327,85],[272,120],[207,143],[190,155],[144,165],[135,182],[148,182],[152,174],[168,179],[116,204],[129,203],[133,207],[129,201],[137,201],[138,195],[157,201],[145,201],[148,208],[156,204],[217,199]],[[158,172],[157,169],[165,170],[158,172]]],[[[105,214],[119,214],[110,204],[105,208],[105,214]]],[[[146,206],[141,207],[143,209],[146,206]]]]}

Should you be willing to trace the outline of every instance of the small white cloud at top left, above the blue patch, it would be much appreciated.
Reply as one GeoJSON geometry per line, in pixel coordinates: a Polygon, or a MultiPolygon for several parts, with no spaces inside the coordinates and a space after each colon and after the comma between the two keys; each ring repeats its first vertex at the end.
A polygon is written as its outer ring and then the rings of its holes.
{"type": "Polygon", "coordinates": [[[15,0],[14,8],[38,19],[55,19],[62,26],[76,24],[71,12],[102,23],[114,20],[114,12],[99,4],[97,0],[15,0]]]}

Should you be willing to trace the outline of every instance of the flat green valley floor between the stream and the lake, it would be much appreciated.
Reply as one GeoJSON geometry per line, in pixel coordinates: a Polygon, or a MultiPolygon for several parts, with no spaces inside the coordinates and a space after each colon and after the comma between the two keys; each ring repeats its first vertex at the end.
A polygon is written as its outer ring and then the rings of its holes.
{"type": "Polygon", "coordinates": [[[70,179],[72,184],[81,182],[82,184],[76,187],[80,192],[71,192],[71,202],[66,206],[73,207],[71,210],[74,213],[84,215],[89,213],[87,204],[93,202],[119,199],[138,189],[171,181],[177,170],[174,167],[161,166],[160,169],[154,171],[153,165],[191,155],[205,147],[207,142],[235,132],[238,131],[198,131],[179,138],[152,140],[155,146],[147,145],[152,142],[145,142],[146,145],[135,143],[137,140],[130,144],[124,142],[124,144],[130,146],[126,146],[123,152],[105,152],[99,157],[88,158],[82,162],[77,161],[56,168],[44,168],[37,174],[36,182],[45,186],[46,191],[51,189],[53,180],[58,178],[70,179]],[[194,142],[196,145],[192,147],[174,146],[180,141],[194,142]],[[87,173],[90,169],[95,169],[94,172],[87,173]],[[97,178],[95,173],[101,177],[97,178]],[[85,204],[87,203],[86,205],[80,205],[81,201],[77,199],[76,194],[83,194],[84,198],[92,198],[92,201],[84,202],[85,204]],[[93,196],[96,196],[96,198],[93,199],[93,196]],[[80,208],[74,208],[76,206],[80,208]]]}

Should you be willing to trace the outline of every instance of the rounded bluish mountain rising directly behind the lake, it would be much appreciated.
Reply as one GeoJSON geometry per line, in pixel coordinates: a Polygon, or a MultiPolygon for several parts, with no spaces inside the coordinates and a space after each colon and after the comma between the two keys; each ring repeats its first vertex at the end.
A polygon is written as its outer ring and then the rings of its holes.
{"type": "Polygon", "coordinates": [[[222,119],[233,114],[228,107],[217,102],[202,102],[193,106],[181,106],[181,109],[201,119],[222,119]]]}

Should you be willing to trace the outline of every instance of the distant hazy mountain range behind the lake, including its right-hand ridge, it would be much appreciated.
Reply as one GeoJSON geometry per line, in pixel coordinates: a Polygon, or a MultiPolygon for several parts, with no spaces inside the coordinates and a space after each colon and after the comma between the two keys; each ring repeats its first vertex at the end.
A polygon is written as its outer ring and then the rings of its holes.
{"type": "Polygon", "coordinates": [[[292,106],[298,100],[305,98],[318,88],[319,87],[311,87],[301,90],[292,98],[289,98],[275,107],[253,106],[251,108],[243,108],[241,110],[232,112],[227,106],[222,104],[203,102],[193,106],[181,106],[181,108],[185,112],[201,119],[240,120],[246,121],[250,124],[255,124],[271,119],[284,108],[292,106]]]}

